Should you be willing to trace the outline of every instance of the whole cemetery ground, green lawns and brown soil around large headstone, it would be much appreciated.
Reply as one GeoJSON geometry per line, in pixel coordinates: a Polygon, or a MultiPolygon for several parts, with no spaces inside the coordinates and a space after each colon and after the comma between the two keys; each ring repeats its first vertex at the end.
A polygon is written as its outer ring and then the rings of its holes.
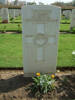
{"type": "Polygon", "coordinates": [[[75,34],[71,34],[69,23],[70,20],[61,20],[60,31],[63,32],[58,41],[56,90],[43,95],[42,99],[26,90],[32,79],[25,78],[23,70],[19,70],[23,66],[22,34],[15,33],[22,30],[21,17],[8,24],[1,23],[0,18],[0,100],[75,100],[75,56],[72,55],[75,34]],[[63,34],[65,31],[67,34],[63,34]]]}

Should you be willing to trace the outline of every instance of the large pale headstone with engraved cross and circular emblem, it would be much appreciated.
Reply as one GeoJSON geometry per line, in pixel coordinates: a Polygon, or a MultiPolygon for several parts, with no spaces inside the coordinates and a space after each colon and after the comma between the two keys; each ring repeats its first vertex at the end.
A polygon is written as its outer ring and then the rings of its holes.
{"type": "Polygon", "coordinates": [[[60,8],[33,5],[22,8],[23,64],[26,76],[55,73],[60,8]]]}

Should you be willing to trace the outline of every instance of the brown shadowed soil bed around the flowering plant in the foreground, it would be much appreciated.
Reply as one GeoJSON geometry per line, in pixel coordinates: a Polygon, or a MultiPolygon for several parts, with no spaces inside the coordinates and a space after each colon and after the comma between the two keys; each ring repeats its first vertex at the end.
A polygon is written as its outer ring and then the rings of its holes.
{"type": "Polygon", "coordinates": [[[55,91],[36,98],[26,90],[32,79],[23,70],[0,70],[0,100],[75,100],[75,70],[58,70],[55,80],[55,91]]]}

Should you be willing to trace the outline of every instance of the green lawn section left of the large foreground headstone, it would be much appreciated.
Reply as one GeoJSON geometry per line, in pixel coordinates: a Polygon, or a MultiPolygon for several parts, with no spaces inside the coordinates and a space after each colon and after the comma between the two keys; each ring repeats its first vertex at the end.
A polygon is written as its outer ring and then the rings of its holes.
{"type": "Polygon", "coordinates": [[[0,34],[0,67],[21,67],[21,34],[0,34]]]}

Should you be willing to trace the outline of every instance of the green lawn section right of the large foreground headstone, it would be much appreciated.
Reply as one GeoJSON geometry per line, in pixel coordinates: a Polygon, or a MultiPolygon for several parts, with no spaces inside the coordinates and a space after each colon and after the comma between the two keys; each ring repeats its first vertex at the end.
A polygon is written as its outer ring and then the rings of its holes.
{"type": "Polygon", "coordinates": [[[75,66],[72,51],[75,50],[75,35],[61,34],[59,38],[58,66],[75,66]]]}

